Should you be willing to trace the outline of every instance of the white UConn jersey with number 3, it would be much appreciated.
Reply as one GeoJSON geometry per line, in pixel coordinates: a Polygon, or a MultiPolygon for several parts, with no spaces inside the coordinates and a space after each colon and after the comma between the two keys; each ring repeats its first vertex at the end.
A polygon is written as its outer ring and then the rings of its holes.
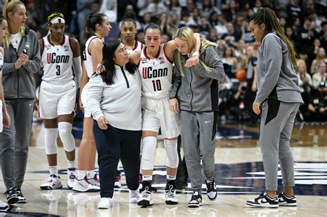
{"type": "Polygon", "coordinates": [[[63,35],[61,45],[53,45],[50,35],[43,37],[43,53],[41,56],[43,64],[43,81],[72,81],[72,48],[67,35],[63,35]]]}

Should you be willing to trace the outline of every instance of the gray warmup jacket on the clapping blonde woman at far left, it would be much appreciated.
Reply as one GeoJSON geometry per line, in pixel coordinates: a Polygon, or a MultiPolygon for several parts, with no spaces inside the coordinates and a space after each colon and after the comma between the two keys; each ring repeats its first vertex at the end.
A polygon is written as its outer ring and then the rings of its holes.
{"type": "Polygon", "coordinates": [[[41,69],[41,58],[37,34],[26,27],[25,34],[21,39],[18,51],[10,43],[9,48],[4,48],[5,58],[2,69],[2,83],[5,99],[34,99],[34,78],[33,73],[41,69]],[[14,69],[23,50],[28,55],[28,63],[19,70],[14,69]]]}

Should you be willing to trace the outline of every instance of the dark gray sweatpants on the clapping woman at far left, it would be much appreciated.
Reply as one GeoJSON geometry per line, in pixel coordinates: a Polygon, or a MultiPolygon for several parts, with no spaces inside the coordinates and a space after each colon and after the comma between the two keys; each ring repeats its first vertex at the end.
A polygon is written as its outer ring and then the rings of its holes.
{"type": "Polygon", "coordinates": [[[1,171],[8,190],[23,184],[33,121],[33,99],[6,100],[10,127],[0,133],[1,171]]]}

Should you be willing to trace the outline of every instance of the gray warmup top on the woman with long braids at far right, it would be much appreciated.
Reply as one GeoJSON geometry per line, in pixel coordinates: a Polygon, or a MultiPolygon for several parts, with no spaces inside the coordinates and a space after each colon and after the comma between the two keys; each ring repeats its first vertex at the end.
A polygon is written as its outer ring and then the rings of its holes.
{"type": "Polygon", "coordinates": [[[289,55],[286,43],[275,32],[269,32],[261,39],[255,101],[262,103],[270,98],[284,103],[304,103],[299,78],[289,55]]]}

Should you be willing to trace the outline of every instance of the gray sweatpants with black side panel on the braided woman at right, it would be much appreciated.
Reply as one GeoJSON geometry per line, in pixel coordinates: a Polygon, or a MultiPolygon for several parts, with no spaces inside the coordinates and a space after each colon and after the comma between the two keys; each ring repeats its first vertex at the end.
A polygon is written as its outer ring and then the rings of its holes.
{"type": "Polygon", "coordinates": [[[293,187],[294,161],[290,149],[290,136],[299,103],[283,103],[268,99],[262,104],[260,138],[266,190],[277,191],[278,162],[284,187],[293,187]]]}

